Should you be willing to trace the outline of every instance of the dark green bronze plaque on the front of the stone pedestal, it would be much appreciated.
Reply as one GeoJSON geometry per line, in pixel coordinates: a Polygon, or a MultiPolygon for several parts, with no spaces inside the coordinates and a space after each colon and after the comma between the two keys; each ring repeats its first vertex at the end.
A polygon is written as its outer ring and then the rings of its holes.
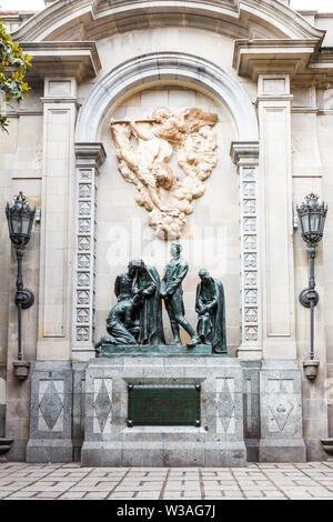
{"type": "Polygon", "coordinates": [[[129,384],[128,425],[200,426],[200,384],[129,384]]]}

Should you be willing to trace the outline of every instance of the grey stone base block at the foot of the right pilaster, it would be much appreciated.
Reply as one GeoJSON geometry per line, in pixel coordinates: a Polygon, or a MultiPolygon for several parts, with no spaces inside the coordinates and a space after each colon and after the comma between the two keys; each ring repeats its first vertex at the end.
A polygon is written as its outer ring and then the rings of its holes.
{"type": "Polygon", "coordinates": [[[261,441],[259,462],[306,462],[304,441],[303,439],[261,441]]]}

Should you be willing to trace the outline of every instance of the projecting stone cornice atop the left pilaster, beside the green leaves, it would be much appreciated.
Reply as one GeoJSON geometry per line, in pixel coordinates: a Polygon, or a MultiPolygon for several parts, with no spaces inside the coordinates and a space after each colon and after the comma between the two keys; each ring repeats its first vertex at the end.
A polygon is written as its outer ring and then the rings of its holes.
{"type": "Polygon", "coordinates": [[[80,82],[94,78],[101,69],[94,42],[22,42],[21,47],[33,58],[28,79],[61,74],[80,82]]]}

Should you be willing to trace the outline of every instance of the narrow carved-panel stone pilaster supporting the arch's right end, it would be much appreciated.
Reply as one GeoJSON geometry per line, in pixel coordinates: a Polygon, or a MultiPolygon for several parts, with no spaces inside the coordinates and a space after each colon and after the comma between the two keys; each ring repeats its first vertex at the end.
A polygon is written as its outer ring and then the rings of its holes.
{"type": "Polygon", "coordinates": [[[261,325],[261,260],[259,234],[259,143],[233,142],[231,157],[240,174],[241,238],[241,328],[240,359],[260,360],[261,325]]]}

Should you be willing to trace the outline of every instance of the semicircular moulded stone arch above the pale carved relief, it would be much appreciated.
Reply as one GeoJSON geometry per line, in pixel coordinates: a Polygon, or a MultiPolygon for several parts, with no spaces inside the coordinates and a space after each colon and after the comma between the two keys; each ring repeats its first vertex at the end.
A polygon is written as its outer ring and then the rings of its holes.
{"type": "Polygon", "coordinates": [[[180,52],[144,54],[112,69],[92,90],[77,122],[77,142],[95,142],[101,122],[117,100],[155,81],[184,81],[218,98],[230,111],[239,141],[258,141],[258,121],[239,81],[214,63],[180,52]]]}

